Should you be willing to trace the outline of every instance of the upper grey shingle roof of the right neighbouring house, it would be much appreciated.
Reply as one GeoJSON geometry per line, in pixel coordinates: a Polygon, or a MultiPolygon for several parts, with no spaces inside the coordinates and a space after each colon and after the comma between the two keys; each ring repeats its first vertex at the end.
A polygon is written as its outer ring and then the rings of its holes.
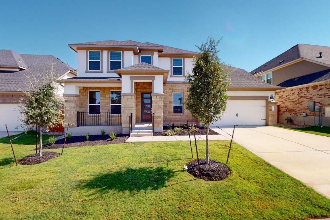
{"type": "Polygon", "coordinates": [[[266,72],[273,68],[285,65],[291,61],[303,58],[306,60],[315,61],[321,65],[330,65],[330,47],[309,44],[297,44],[296,46],[291,47],[279,56],[269,60],[258,68],[252,70],[250,74],[255,75],[261,72],[266,72]],[[318,58],[319,52],[322,52],[322,58],[318,58]]]}

